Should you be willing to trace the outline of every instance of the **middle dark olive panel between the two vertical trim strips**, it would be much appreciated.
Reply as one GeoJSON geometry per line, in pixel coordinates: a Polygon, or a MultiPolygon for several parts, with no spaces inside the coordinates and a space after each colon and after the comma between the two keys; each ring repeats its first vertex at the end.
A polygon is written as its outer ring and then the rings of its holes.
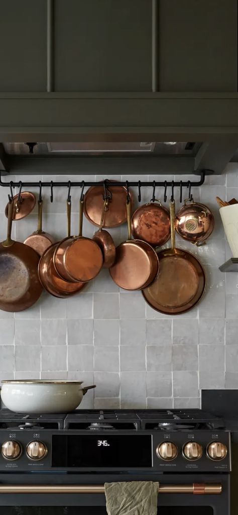
{"type": "Polygon", "coordinates": [[[55,91],[151,91],[150,0],[55,0],[55,91]]]}

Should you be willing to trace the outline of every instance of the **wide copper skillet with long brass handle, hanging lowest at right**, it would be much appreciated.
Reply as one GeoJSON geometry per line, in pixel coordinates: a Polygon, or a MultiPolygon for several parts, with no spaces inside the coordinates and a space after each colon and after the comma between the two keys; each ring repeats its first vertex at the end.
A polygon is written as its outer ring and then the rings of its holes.
{"type": "Polygon", "coordinates": [[[160,271],[157,279],[142,295],[154,310],[176,315],[191,310],[201,299],[206,276],[193,254],[175,247],[175,203],[171,202],[170,249],[158,252],[160,271]]]}

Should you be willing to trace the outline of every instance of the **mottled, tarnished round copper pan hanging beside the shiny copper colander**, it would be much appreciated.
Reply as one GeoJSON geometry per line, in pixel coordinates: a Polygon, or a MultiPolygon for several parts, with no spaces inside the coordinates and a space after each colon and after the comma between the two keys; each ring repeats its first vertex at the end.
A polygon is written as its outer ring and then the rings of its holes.
{"type": "Polygon", "coordinates": [[[132,215],[131,231],[134,238],[152,247],[164,245],[170,238],[169,211],[159,200],[142,205],[132,215]]]}

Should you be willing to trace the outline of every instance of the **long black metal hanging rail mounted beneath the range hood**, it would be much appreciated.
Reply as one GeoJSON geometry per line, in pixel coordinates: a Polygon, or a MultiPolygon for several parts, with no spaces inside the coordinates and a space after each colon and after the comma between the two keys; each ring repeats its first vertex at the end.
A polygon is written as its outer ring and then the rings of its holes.
{"type": "MultiPolygon", "coordinates": [[[[65,186],[66,188],[69,188],[69,184],[70,186],[73,186],[73,187],[82,187],[83,186],[95,186],[95,185],[98,185],[98,186],[101,186],[102,183],[101,182],[95,182],[95,181],[78,181],[78,182],[75,182],[75,181],[67,181],[67,182],[54,182],[54,181],[49,181],[49,182],[45,182],[45,181],[38,181],[38,182],[32,182],[32,181],[24,181],[22,182],[21,180],[20,181],[8,181],[8,182],[5,182],[2,180],[2,172],[4,172],[4,170],[0,170],[0,186],[3,186],[3,187],[8,187],[8,188],[14,188],[14,187],[49,187],[50,188],[50,192],[51,192],[51,195],[52,195],[52,191],[53,191],[53,188],[54,187],[57,187],[57,186],[65,186]]],[[[168,186],[173,186],[173,187],[176,187],[176,186],[179,186],[180,188],[181,187],[186,187],[188,188],[188,185],[190,187],[194,187],[194,186],[202,186],[202,184],[204,183],[205,181],[205,176],[206,174],[209,175],[211,173],[211,170],[207,170],[207,169],[204,169],[204,170],[201,170],[199,175],[200,175],[200,180],[199,181],[196,181],[196,182],[192,182],[192,181],[153,181],[153,182],[142,182],[142,181],[124,181],[124,182],[111,182],[110,180],[107,180],[107,186],[110,186],[110,187],[113,187],[113,186],[118,186],[118,184],[121,184],[122,186],[128,186],[128,187],[131,187],[131,186],[138,186],[139,187],[139,191],[140,191],[140,188],[141,187],[157,187],[157,186],[160,186],[160,187],[164,187],[166,185],[166,187],[168,186]]],[[[196,173],[196,175],[198,175],[196,173]]]]}

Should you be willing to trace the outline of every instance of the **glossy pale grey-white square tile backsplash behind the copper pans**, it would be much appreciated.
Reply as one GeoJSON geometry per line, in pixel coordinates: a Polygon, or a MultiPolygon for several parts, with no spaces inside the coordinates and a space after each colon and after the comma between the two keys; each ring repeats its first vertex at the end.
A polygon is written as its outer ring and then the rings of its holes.
{"type": "MultiPolygon", "coordinates": [[[[21,180],[44,178],[23,176],[21,180]]],[[[125,179],[132,177],[122,176],[125,179]]],[[[156,196],[161,193],[158,188],[156,196]]],[[[7,194],[6,188],[0,188],[1,239],[6,235],[7,194]]],[[[216,196],[238,198],[238,165],[228,165],[222,176],[207,177],[193,195],[215,216],[207,245],[196,248],[177,238],[177,245],[195,253],[206,268],[207,292],[197,307],[174,318],[164,316],[146,305],[139,291],[120,290],[103,269],[71,299],[43,293],[27,311],[0,311],[0,380],[69,379],[96,384],[84,397],[83,408],[199,407],[201,388],[238,388],[238,275],[218,270],[231,254],[215,200],[216,196]]],[[[77,233],[78,196],[77,188],[72,188],[73,233],[77,233]]],[[[142,188],[142,203],[150,197],[149,188],[142,188]]],[[[178,209],[178,192],[176,198],[178,209]]],[[[55,188],[53,204],[44,191],[43,228],[56,240],[66,232],[65,205],[64,188],[55,188]]],[[[14,222],[13,236],[24,241],[36,227],[35,208],[33,214],[14,222]]],[[[83,233],[92,236],[95,230],[84,219],[83,233]]],[[[126,238],[126,225],[110,232],[118,244],[126,238]]]]}

